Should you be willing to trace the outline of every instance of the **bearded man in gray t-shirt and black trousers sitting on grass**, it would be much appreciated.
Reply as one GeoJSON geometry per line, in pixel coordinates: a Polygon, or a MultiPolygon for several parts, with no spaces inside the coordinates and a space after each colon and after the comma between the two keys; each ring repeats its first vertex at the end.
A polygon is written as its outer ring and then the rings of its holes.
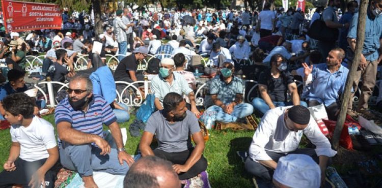
{"type": "Polygon", "coordinates": [[[163,99],[163,109],[150,116],[139,149],[142,156],[155,155],[172,162],[180,180],[192,178],[207,169],[198,119],[187,110],[182,96],[175,92],[168,93],[163,99]],[[153,151],[150,144],[154,135],[158,148],[153,151]]]}

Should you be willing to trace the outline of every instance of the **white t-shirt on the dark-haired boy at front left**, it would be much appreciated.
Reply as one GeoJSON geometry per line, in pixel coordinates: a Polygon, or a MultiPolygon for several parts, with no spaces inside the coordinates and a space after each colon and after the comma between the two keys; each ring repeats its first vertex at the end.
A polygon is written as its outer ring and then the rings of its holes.
{"type": "Polygon", "coordinates": [[[48,158],[47,149],[57,146],[52,124],[40,117],[33,117],[28,127],[12,125],[12,142],[20,143],[20,159],[33,162],[48,158]]]}

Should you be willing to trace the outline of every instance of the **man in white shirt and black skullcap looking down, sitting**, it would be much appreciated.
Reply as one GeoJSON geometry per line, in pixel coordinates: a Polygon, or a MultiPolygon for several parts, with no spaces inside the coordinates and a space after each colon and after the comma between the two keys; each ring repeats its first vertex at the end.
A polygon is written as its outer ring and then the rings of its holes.
{"type": "Polygon", "coordinates": [[[244,167],[256,177],[258,183],[271,184],[271,171],[278,167],[282,156],[291,153],[311,156],[320,166],[321,184],[325,181],[330,158],[337,154],[321,133],[308,108],[301,105],[278,107],[264,115],[253,135],[244,167]],[[315,149],[298,148],[303,134],[316,146],[315,149]]]}

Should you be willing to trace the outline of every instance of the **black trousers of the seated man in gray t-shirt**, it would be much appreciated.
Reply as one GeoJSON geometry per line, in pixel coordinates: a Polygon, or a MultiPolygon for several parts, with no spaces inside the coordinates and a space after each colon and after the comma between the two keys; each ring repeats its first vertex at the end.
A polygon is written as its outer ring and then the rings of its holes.
{"type": "MultiPolygon", "coordinates": [[[[159,158],[170,161],[173,164],[184,165],[191,155],[192,149],[187,149],[181,152],[166,152],[160,149],[155,149],[154,154],[159,158]]],[[[180,180],[189,179],[195,177],[199,173],[205,171],[207,169],[207,160],[202,155],[198,162],[195,163],[193,167],[191,167],[187,172],[178,174],[180,180]]]]}

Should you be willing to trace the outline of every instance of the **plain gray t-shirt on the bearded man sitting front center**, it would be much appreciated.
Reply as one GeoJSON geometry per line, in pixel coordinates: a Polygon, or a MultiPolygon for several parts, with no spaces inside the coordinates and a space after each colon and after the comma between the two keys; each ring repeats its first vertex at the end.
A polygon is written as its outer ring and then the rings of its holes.
{"type": "Polygon", "coordinates": [[[192,148],[190,135],[200,131],[196,116],[187,110],[183,121],[170,123],[162,112],[162,110],[154,112],[147,121],[145,129],[155,134],[158,149],[166,152],[181,152],[192,148]]]}

